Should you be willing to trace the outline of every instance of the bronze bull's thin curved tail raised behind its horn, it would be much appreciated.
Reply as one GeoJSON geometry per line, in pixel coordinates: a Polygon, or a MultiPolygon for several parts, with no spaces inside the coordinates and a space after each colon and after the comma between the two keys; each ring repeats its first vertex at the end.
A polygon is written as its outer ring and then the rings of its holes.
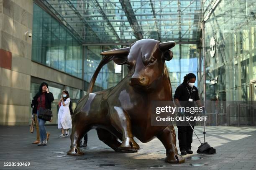
{"type": "Polygon", "coordinates": [[[99,66],[97,67],[97,69],[95,70],[95,72],[94,72],[94,74],[93,74],[93,76],[92,76],[92,79],[91,79],[90,84],[89,84],[88,89],[87,89],[87,94],[89,94],[89,93],[92,92],[92,89],[93,89],[93,86],[94,86],[95,81],[96,81],[96,79],[97,79],[97,76],[98,76],[98,74],[100,73],[100,69],[101,69],[105,64],[107,64],[107,63],[109,63],[110,61],[112,61],[112,60],[113,60],[113,57],[114,57],[114,56],[104,56],[104,57],[102,58],[102,60],[101,60],[100,63],[99,63],[99,66]]]}

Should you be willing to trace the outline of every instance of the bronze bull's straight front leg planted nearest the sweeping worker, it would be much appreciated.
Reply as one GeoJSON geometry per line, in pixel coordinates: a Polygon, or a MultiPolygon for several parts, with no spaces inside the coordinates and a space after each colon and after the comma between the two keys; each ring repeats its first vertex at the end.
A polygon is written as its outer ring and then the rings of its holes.
{"type": "Polygon", "coordinates": [[[178,154],[176,147],[176,135],[173,126],[166,127],[164,131],[156,136],[166,149],[165,162],[169,163],[184,163],[184,158],[178,154]]]}

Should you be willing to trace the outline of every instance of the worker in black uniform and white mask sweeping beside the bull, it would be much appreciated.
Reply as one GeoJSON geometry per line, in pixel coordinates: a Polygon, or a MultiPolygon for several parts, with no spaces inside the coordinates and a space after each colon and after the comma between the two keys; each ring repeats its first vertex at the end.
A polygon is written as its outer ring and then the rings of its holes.
{"type": "MultiPolygon", "coordinates": [[[[195,106],[195,103],[198,107],[202,107],[202,104],[200,102],[200,98],[198,95],[198,89],[196,86],[194,86],[196,81],[196,76],[193,73],[189,73],[186,76],[184,76],[183,83],[180,84],[174,94],[174,103],[178,107],[193,107],[195,106]]],[[[178,114],[185,115],[186,117],[189,116],[195,116],[191,113],[185,113],[179,112],[178,114]]],[[[189,121],[192,124],[192,127],[194,129],[195,122],[189,121]]],[[[191,144],[192,144],[192,135],[193,130],[187,123],[187,121],[183,121],[182,124],[177,122],[178,127],[178,139],[179,139],[179,150],[182,155],[192,154],[193,151],[191,150],[191,144]]]]}

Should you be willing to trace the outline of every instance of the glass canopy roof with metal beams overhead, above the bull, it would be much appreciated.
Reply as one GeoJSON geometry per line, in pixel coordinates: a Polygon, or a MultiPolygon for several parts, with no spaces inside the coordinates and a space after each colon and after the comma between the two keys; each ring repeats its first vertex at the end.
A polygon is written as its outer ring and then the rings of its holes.
{"type": "Polygon", "coordinates": [[[210,0],[41,0],[82,43],[197,42],[210,0]]]}

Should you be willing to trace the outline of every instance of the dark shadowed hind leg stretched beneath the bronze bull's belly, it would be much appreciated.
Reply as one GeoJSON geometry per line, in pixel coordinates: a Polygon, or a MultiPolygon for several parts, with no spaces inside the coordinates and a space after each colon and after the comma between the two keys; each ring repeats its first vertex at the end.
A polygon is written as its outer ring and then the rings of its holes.
{"type": "Polygon", "coordinates": [[[102,142],[111,147],[113,150],[118,151],[118,147],[121,145],[121,143],[118,142],[117,137],[115,137],[113,134],[111,134],[105,129],[96,128],[96,130],[98,137],[102,142]]]}

